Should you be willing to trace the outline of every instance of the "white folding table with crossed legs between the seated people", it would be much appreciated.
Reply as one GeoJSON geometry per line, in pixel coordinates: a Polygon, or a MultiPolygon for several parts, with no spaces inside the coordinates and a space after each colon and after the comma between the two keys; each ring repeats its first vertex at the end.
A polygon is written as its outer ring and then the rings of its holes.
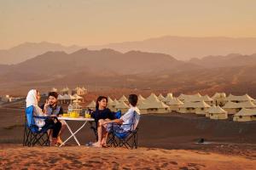
{"type": "Polygon", "coordinates": [[[69,139],[71,139],[72,137],[73,137],[73,139],[75,139],[75,141],[77,142],[77,144],[79,144],[79,146],[80,146],[81,144],[79,143],[79,140],[76,138],[75,134],[78,133],[78,132],[85,126],[85,124],[86,124],[88,121],[95,121],[93,118],[84,118],[84,117],[77,117],[77,118],[74,118],[74,117],[64,117],[64,116],[58,117],[58,120],[62,120],[63,122],[65,122],[66,125],[67,125],[67,128],[68,128],[69,132],[71,133],[71,136],[68,137],[68,138],[60,145],[60,147],[61,147],[63,144],[66,144],[67,141],[68,141],[69,139]],[[84,124],[83,124],[81,127],[79,127],[79,129],[76,130],[76,131],[73,133],[73,130],[72,130],[72,129],[68,126],[68,124],[67,124],[68,121],[80,121],[80,122],[84,122],[84,124]]]}

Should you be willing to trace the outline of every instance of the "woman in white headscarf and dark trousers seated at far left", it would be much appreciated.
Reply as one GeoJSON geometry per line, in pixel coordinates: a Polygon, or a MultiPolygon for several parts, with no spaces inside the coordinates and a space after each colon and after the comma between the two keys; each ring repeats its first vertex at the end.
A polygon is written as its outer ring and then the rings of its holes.
{"type": "MultiPolygon", "coordinates": [[[[36,89],[30,90],[26,96],[26,108],[33,106],[33,116],[48,116],[46,114],[46,111],[42,111],[42,109],[38,106],[39,101],[40,101],[40,94],[38,90],[36,89]]],[[[56,144],[58,134],[60,133],[60,130],[61,130],[61,122],[55,122],[55,119],[50,117],[46,119],[35,118],[34,120],[35,120],[35,124],[39,128],[51,126],[51,129],[53,130],[51,145],[56,144]]]]}

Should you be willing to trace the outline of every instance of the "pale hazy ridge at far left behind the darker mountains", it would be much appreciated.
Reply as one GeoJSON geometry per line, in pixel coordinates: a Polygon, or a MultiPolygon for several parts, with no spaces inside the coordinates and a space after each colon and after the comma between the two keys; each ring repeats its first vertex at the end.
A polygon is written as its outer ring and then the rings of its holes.
{"type": "Polygon", "coordinates": [[[64,51],[66,53],[73,53],[79,50],[79,46],[62,46],[59,43],[50,42],[25,42],[14,48],[0,50],[0,64],[17,64],[26,59],[32,59],[33,57],[44,54],[48,51],[64,51]]]}

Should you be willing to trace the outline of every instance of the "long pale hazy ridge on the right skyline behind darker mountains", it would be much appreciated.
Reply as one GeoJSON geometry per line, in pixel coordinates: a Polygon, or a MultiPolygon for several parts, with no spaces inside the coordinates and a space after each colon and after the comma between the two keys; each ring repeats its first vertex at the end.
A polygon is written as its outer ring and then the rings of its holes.
{"type": "Polygon", "coordinates": [[[170,54],[176,59],[189,60],[208,55],[254,54],[256,38],[233,37],[156,37],[137,42],[110,43],[90,46],[90,49],[113,48],[120,52],[141,50],[170,54]]]}

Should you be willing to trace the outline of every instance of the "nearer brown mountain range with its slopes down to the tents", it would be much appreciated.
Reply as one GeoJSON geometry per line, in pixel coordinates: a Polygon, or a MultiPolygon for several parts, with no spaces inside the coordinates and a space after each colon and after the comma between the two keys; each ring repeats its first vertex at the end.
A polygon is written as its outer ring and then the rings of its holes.
{"type": "Polygon", "coordinates": [[[102,88],[168,89],[174,94],[224,91],[256,96],[255,71],[255,54],[182,61],[169,54],[82,48],[71,54],[47,52],[16,65],[0,65],[0,94],[86,84],[102,88]]]}

